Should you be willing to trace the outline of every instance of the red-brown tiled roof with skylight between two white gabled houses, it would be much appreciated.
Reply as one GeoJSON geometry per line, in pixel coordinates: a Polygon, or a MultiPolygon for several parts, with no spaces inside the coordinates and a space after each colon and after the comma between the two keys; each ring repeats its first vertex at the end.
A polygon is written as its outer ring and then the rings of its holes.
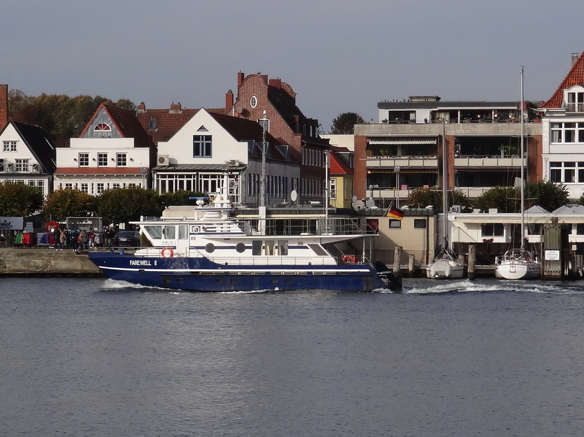
{"type": "MultiPolygon", "coordinates": [[[[206,109],[208,113],[224,114],[225,108],[206,109]]],[[[193,116],[199,112],[199,109],[145,109],[138,111],[137,120],[142,128],[150,136],[154,144],[159,141],[168,141],[182,128],[193,116]],[[150,128],[150,120],[156,120],[156,127],[150,128]]]]}

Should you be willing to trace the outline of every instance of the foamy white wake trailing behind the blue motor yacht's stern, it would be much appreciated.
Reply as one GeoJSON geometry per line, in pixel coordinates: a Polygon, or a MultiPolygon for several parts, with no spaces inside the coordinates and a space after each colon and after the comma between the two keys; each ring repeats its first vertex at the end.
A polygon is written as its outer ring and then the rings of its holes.
{"type": "Polygon", "coordinates": [[[488,293],[488,292],[517,292],[517,293],[561,293],[584,294],[584,284],[576,282],[549,282],[549,281],[501,281],[498,279],[484,279],[469,281],[426,281],[412,279],[404,281],[403,293],[435,294],[435,293],[488,293]],[[408,283],[409,282],[409,283],[408,283]]]}

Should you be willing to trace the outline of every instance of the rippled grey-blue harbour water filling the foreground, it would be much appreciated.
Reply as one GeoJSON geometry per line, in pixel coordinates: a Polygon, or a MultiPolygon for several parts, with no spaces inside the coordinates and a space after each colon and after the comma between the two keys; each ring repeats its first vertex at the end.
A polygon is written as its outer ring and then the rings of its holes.
{"type": "Polygon", "coordinates": [[[0,284],[0,435],[584,433],[584,282],[0,284]]]}

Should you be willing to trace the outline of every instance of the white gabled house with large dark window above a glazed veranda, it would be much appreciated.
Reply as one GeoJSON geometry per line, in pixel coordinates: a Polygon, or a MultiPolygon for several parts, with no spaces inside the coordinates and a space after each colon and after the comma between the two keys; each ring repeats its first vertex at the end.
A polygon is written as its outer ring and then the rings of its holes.
{"type": "MultiPolygon", "coordinates": [[[[154,110],[159,111],[159,110],[154,110]]],[[[180,107],[175,109],[179,116],[180,107]]],[[[189,110],[191,111],[191,110],[189,110]]],[[[152,117],[149,123],[165,129],[169,118],[152,117]],[[155,122],[151,120],[156,119],[155,122]]],[[[171,114],[172,116],[172,114],[171,114]]],[[[223,175],[230,173],[234,201],[257,204],[260,180],[266,176],[267,202],[283,202],[297,188],[300,166],[290,158],[287,145],[278,144],[255,121],[200,109],[168,140],[158,141],[157,166],[153,169],[154,188],[159,193],[177,190],[217,193],[223,175]],[[262,144],[266,141],[265,170],[262,170],[262,144]]]]}

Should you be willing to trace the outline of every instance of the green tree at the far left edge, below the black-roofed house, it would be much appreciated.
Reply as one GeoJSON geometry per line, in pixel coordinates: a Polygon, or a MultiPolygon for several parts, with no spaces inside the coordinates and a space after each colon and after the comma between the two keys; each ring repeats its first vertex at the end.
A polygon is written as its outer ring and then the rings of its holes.
{"type": "Polygon", "coordinates": [[[25,184],[0,183],[0,215],[28,217],[43,206],[43,192],[25,184]]]}

